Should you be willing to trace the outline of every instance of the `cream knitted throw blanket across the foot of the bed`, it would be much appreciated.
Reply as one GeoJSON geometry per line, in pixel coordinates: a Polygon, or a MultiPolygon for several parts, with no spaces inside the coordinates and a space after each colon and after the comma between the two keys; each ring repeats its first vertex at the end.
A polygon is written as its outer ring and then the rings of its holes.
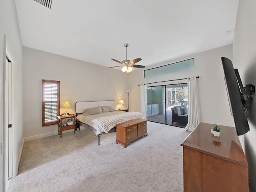
{"type": "Polygon", "coordinates": [[[138,118],[142,119],[143,114],[140,112],[125,112],[117,115],[94,118],[91,122],[99,124],[102,130],[108,133],[116,124],[138,118]]]}

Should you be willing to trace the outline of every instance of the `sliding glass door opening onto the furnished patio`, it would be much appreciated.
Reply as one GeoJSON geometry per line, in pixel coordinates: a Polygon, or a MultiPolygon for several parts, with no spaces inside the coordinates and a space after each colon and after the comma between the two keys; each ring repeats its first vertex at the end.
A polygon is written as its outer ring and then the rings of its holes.
{"type": "Polygon", "coordinates": [[[185,127],[188,114],[188,85],[172,84],[147,88],[147,120],[185,127]]]}

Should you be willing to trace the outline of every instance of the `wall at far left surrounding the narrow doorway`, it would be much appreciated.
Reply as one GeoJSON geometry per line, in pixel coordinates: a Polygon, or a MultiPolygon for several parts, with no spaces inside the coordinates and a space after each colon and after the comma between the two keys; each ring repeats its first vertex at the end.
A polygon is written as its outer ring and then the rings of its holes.
{"type": "MultiPolygon", "coordinates": [[[[22,42],[20,37],[20,28],[18,24],[16,6],[14,0],[0,1],[0,132],[3,132],[3,65],[4,65],[4,35],[6,43],[14,59],[15,77],[14,77],[14,118],[15,128],[15,161],[18,172],[18,157],[22,151],[23,125],[22,123],[22,42]]],[[[1,134],[0,134],[1,135],[1,134]]],[[[2,141],[2,138],[0,138],[2,141]]],[[[2,166],[2,165],[1,165],[2,166]]],[[[2,174],[2,172],[1,172],[2,174]]],[[[0,185],[2,188],[2,185],[0,185]]]]}

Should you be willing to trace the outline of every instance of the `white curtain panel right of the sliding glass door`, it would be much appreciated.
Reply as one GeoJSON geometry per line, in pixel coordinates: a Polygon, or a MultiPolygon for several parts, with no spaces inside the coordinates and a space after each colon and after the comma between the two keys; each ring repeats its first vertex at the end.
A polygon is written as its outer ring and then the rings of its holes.
{"type": "Polygon", "coordinates": [[[199,100],[196,76],[188,78],[188,124],[185,131],[192,131],[200,123],[199,100]]]}

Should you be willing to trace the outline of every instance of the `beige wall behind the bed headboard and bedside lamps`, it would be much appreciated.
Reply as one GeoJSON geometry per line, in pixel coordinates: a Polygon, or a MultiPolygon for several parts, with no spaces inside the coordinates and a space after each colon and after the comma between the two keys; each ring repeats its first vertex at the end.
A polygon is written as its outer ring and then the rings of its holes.
{"type": "Polygon", "coordinates": [[[26,140],[58,134],[58,126],[42,126],[42,79],[60,81],[60,113],[68,100],[69,113],[75,114],[78,101],[124,100],[128,78],[121,70],[23,47],[24,137],[26,140]]]}

